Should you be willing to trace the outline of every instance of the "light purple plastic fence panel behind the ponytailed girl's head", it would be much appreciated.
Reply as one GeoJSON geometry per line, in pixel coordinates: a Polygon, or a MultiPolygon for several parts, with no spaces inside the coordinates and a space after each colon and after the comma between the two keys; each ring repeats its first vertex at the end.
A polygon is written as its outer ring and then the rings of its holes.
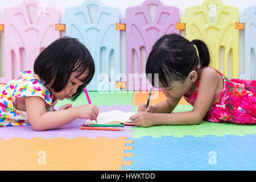
{"type": "Polygon", "coordinates": [[[126,80],[122,78],[122,82],[127,82],[127,90],[150,90],[145,71],[147,57],[161,36],[179,34],[175,30],[179,9],[148,0],[142,6],[127,8],[121,23],[126,24],[126,80]]]}

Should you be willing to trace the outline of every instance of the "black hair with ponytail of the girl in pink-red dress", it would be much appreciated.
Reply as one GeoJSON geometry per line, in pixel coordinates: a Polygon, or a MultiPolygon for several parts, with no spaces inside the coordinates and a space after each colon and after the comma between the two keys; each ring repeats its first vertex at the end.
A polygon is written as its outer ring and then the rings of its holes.
{"type": "Polygon", "coordinates": [[[184,81],[188,74],[197,67],[207,67],[210,54],[207,45],[202,40],[189,40],[178,34],[163,35],[156,41],[147,59],[146,73],[151,84],[158,87],[155,73],[161,86],[168,88],[173,81],[184,81]],[[197,56],[197,51],[198,55],[197,56]]]}

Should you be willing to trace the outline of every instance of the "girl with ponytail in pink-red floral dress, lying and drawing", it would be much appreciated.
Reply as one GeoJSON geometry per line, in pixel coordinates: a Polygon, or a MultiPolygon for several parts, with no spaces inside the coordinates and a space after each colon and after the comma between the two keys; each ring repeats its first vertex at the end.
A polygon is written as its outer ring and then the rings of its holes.
{"type": "Polygon", "coordinates": [[[153,73],[152,85],[160,87],[167,100],[147,108],[141,104],[138,114],[130,119],[142,127],[197,125],[202,120],[255,124],[256,80],[229,80],[209,63],[209,50],[203,41],[189,42],[177,34],[162,36],[148,56],[146,73],[153,73]],[[181,97],[193,110],[171,113],[181,97]]]}

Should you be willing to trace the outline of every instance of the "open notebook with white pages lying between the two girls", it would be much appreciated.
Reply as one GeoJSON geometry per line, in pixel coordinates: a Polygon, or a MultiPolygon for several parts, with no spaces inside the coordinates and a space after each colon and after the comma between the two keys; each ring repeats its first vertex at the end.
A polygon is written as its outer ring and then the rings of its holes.
{"type": "Polygon", "coordinates": [[[125,113],[121,110],[111,110],[105,113],[99,113],[97,117],[97,123],[95,120],[91,121],[87,119],[85,124],[111,124],[116,125],[120,123],[131,123],[130,117],[136,113],[125,113]]]}

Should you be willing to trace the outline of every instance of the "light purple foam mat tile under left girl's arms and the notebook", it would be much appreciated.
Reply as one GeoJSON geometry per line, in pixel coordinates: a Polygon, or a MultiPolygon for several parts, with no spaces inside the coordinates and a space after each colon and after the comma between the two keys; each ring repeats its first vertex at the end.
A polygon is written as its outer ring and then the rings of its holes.
{"type": "MultiPolygon", "coordinates": [[[[100,109],[100,112],[105,112],[114,109],[130,112],[131,106],[98,106],[98,108],[100,109]]],[[[92,139],[97,137],[118,138],[129,137],[130,134],[127,135],[127,132],[129,132],[130,130],[127,129],[133,128],[133,126],[120,127],[125,129],[123,131],[81,130],[82,123],[84,122],[85,119],[75,119],[71,123],[61,126],[59,129],[47,131],[35,131],[34,129],[32,129],[31,126],[0,127],[0,139],[54,139],[56,137],[63,137],[66,139],[75,139],[76,137],[86,137],[92,139]]]]}

